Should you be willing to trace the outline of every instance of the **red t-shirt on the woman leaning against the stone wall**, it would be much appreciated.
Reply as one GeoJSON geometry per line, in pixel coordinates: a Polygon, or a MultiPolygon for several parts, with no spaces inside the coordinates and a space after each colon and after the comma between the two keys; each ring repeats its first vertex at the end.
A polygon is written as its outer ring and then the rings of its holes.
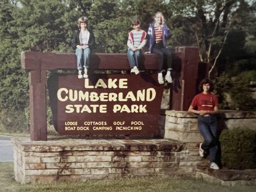
{"type": "Polygon", "coordinates": [[[192,103],[191,106],[195,109],[197,107],[197,110],[209,110],[213,111],[215,106],[218,106],[218,98],[214,94],[207,93],[199,93],[197,94],[192,103]]]}

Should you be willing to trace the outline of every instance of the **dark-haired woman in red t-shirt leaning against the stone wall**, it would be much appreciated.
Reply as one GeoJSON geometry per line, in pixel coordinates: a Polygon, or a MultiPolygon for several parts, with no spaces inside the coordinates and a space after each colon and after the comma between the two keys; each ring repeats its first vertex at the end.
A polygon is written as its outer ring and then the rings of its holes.
{"type": "Polygon", "coordinates": [[[206,152],[209,152],[210,168],[219,169],[215,163],[216,154],[218,151],[218,120],[216,114],[218,113],[218,98],[211,92],[214,90],[212,81],[208,78],[203,79],[199,84],[199,91],[188,111],[198,115],[197,123],[200,133],[203,135],[205,141],[200,144],[199,155],[203,157],[206,152]]]}

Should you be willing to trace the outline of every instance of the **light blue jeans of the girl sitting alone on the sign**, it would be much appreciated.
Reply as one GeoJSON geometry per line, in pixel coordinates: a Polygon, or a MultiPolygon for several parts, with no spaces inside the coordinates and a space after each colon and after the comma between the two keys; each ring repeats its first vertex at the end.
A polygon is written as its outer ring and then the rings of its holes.
{"type": "Polygon", "coordinates": [[[78,70],[83,69],[82,61],[84,61],[84,68],[89,68],[90,53],[91,53],[90,48],[85,48],[85,49],[76,48],[75,49],[75,55],[76,55],[76,59],[77,59],[77,69],[78,70]]]}

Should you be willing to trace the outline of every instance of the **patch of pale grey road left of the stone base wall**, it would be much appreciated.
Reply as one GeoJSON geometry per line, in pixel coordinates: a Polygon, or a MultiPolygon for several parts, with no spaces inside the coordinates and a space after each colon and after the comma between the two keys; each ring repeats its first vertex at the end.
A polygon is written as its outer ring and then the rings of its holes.
{"type": "Polygon", "coordinates": [[[11,137],[0,136],[0,162],[13,161],[11,137]]]}

